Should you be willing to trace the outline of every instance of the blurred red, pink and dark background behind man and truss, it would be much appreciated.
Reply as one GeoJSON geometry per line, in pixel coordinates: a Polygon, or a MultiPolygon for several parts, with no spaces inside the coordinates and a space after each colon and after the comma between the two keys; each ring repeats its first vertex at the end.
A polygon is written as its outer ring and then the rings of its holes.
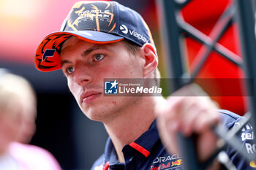
{"type": "MultiPolygon", "coordinates": [[[[148,23],[159,55],[159,69],[165,74],[165,53],[161,44],[159,16],[154,0],[117,0],[135,9],[148,23]]],[[[184,20],[210,35],[214,24],[231,0],[192,0],[182,11],[184,20]]],[[[63,169],[89,169],[102,154],[108,135],[101,123],[92,122],[78,108],[67,88],[61,71],[42,73],[34,67],[34,53],[39,42],[53,31],[59,31],[75,0],[0,0],[0,68],[26,77],[37,92],[37,133],[31,144],[43,147],[56,157],[63,169]]],[[[238,31],[233,24],[219,43],[241,55],[238,31]]],[[[201,45],[184,39],[187,66],[192,65],[201,45]]],[[[217,53],[211,53],[198,78],[241,78],[241,69],[217,53]]],[[[219,89],[217,84],[213,88],[219,89]]],[[[165,87],[167,88],[167,87],[165,87]]],[[[234,90],[240,90],[241,86],[234,90]]],[[[242,92],[241,92],[242,93],[242,92]]],[[[241,96],[212,97],[222,109],[243,115],[246,101],[241,96]]],[[[28,101],[29,102],[29,101],[28,101]]]]}

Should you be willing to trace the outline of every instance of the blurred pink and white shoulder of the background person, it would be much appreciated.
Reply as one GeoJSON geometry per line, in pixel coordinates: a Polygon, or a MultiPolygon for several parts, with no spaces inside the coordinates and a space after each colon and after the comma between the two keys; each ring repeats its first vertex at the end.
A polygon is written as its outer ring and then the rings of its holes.
{"type": "Polygon", "coordinates": [[[56,158],[42,147],[37,147],[31,144],[21,144],[12,142],[10,145],[10,154],[18,161],[26,164],[26,166],[37,167],[40,169],[59,170],[61,167],[56,161],[56,158]]]}

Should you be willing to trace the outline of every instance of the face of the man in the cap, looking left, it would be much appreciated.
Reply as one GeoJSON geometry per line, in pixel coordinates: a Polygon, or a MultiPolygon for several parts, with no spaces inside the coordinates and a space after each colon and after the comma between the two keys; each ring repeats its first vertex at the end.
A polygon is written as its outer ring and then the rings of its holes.
{"type": "Polygon", "coordinates": [[[139,104],[139,97],[104,96],[105,78],[143,77],[143,58],[124,42],[92,44],[72,36],[61,48],[61,69],[83,113],[103,121],[139,104]],[[111,116],[112,115],[112,116],[111,116]]]}

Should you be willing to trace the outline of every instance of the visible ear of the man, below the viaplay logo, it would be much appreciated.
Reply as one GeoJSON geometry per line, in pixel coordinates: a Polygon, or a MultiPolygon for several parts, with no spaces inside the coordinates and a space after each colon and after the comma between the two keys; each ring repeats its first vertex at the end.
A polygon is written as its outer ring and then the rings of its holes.
{"type": "Polygon", "coordinates": [[[143,45],[143,47],[141,47],[141,51],[143,52],[143,59],[145,60],[143,65],[143,76],[146,77],[157,69],[158,58],[156,50],[151,44],[147,43],[143,45]]]}

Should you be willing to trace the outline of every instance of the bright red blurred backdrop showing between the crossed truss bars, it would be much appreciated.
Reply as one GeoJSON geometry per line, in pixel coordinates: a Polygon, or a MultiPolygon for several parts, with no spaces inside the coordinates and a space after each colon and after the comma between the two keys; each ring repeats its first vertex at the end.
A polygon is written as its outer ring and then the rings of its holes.
{"type": "MultiPolygon", "coordinates": [[[[182,9],[182,15],[184,20],[191,26],[194,26],[203,34],[214,38],[217,34],[216,31],[214,31],[214,26],[217,23],[217,20],[219,20],[222,13],[227,7],[230,7],[230,4],[232,3],[232,0],[193,0],[182,9]]],[[[239,38],[237,27],[237,23],[232,23],[219,39],[218,43],[233,52],[239,61],[241,58],[241,49],[238,44],[239,38]]],[[[186,38],[185,43],[187,46],[189,71],[192,72],[195,70],[198,59],[200,59],[198,58],[197,53],[200,50],[203,51],[205,49],[201,49],[203,45],[189,37],[186,38]]],[[[244,73],[241,68],[236,66],[236,64],[220,57],[216,52],[211,52],[196,78],[242,79],[244,78],[244,73]]],[[[244,88],[245,87],[242,84],[229,86],[222,85],[221,82],[212,80],[211,90],[215,90],[214,93],[218,93],[219,96],[211,96],[211,98],[217,101],[221,108],[236,112],[238,115],[244,115],[247,111],[246,96],[244,96],[245,92],[242,90],[244,88]],[[225,95],[225,92],[230,90],[236,91],[237,96],[225,95]],[[223,96],[221,94],[223,94],[223,96]]],[[[207,91],[209,89],[205,90],[207,91]]]]}

